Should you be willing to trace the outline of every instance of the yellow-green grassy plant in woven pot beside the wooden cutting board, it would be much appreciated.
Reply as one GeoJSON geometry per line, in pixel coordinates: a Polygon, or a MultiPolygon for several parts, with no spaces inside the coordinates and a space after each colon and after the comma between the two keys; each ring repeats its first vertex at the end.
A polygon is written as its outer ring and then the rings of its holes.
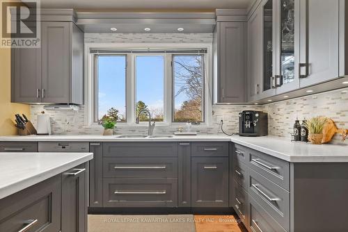
{"type": "Polygon", "coordinates": [[[322,144],[322,139],[324,137],[323,129],[327,122],[326,117],[317,116],[313,117],[305,123],[308,129],[308,140],[313,144],[322,144]]]}

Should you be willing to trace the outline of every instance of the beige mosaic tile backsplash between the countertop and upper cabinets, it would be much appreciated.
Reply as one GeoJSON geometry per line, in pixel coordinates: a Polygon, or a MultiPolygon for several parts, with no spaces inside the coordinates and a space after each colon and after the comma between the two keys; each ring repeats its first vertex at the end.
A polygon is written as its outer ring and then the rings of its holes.
{"type": "MultiPolygon", "coordinates": [[[[36,114],[43,110],[42,106],[31,106],[31,119],[36,125],[36,114]]],[[[269,103],[264,106],[213,106],[214,114],[209,125],[191,126],[191,131],[203,134],[222,134],[220,121],[223,119],[224,129],[228,133],[238,133],[238,113],[242,110],[263,110],[269,114],[269,135],[290,138],[294,120],[300,120],[317,115],[331,117],[338,128],[348,128],[348,88],[331,92],[315,94],[287,101],[269,103]]],[[[85,126],[84,107],[78,112],[71,110],[46,111],[51,117],[54,134],[102,134],[102,126],[85,126]]],[[[171,134],[177,131],[177,125],[156,126],[155,133],[171,134]]],[[[148,126],[118,126],[116,134],[142,133],[148,131],[148,126]]],[[[340,136],[335,135],[333,142],[340,142],[340,136]]]]}

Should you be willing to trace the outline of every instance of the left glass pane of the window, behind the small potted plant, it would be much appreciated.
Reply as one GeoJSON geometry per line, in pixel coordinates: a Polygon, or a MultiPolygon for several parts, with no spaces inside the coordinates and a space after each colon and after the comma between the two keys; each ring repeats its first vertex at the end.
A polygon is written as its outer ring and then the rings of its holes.
{"type": "Polygon", "coordinates": [[[126,122],[126,56],[96,56],[97,110],[95,122],[106,115],[126,122]]]}

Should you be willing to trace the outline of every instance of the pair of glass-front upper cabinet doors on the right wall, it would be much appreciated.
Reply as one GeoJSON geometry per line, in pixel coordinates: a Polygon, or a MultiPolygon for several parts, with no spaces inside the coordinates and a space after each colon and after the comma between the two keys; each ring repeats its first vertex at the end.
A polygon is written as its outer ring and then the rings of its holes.
{"type": "Polygon", "coordinates": [[[299,0],[264,0],[261,99],[299,88],[299,0]]]}

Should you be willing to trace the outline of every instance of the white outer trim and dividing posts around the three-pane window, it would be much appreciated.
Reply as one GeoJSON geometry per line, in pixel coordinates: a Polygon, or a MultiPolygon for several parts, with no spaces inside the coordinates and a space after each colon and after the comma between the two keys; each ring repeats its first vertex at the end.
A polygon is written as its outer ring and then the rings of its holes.
{"type": "MultiPolygon", "coordinates": [[[[95,78],[95,65],[94,65],[94,56],[95,53],[91,53],[91,50],[98,50],[98,49],[120,49],[122,51],[129,51],[134,49],[206,49],[207,53],[205,53],[205,70],[204,70],[204,90],[203,90],[203,103],[204,103],[204,121],[200,125],[201,126],[209,126],[213,123],[213,95],[215,94],[215,91],[213,90],[213,44],[212,43],[161,43],[161,44],[152,44],[152,43],[95,43],[95,42],[87,42],[85,43],[85,103],[84,103],[84,126],[86,128],[97,128],[100,125],[97,122],[94,122],[94,112],[95,112],[95,86],[94,86],[94,78],[95,78]]],[[[110,55],[111,53],[108,53],[107,55],[110,55]]],[[[119,55],[122,53],[112,53],[115,55],[119,55]]],[[[163,55],[164,53],[160,53],[163,55]]],[[[187,54],[187,53],[183,53],[187,54]]],[[[125,55],[123,53],[123,55],[125,55]]],[[[140,124],[135,124],[135,92],[134,88],[132,86],[135,86],[134,83],[134,72],[133,72],[133,65],[132,64],[132,58],[127,55],[127,71],[126,71],[126,117],[127,122],[120,122],[118,123],[118,127],[127,127],[127,126],[147,126],[147,122],[141,122],[140,124]]],[[[175,55],[181,55],[180,53],[175,53],[175,55]]],[[[194,55],[197,55],[196,53],[194,55]]],[[[173,103],[173,74],[171,69],[171,61],[173,54],[166,53],[166,79],[164,81],[165,88],[164,91],[166,91],[165,99],[164,99],[164,114],[165,114],[165,121],[164,122],[158,122],[157,126],[184,126],[186,123],[183,122],[173,122],[173,116],[172,116],[172,103],[173,103]],[[168,81],[169,79],[169,81],[168,81]]],[[[198,126],[199,127],[199,126],[198,126]]]]}

